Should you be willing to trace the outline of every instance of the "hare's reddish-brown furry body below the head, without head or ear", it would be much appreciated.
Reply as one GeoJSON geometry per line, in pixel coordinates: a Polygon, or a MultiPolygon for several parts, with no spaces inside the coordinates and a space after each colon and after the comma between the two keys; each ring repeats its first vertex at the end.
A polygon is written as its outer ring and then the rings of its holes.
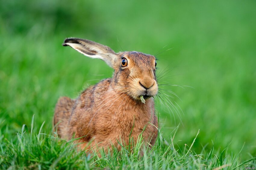
{"type": "Polygon", "coordinates": [[[131,137],[137,141],[144,128],[142,136],[152,145],[158,134],[153,98],[143,104],[127,94],[118,94],[111,88],[111,79],[86,89],[76,100],[61,97],[54,119],[55,124],[59,122],[58,127],[61,127],[58,129],[61,138],[70,140],[84,136],[77,141],[86,142],[82,148],[96,144],[100,148],[111,144],[120,147],[117,141],[128,144],[131,137]],[[90,140],[92,143],[88,145],[90,140]]]}

